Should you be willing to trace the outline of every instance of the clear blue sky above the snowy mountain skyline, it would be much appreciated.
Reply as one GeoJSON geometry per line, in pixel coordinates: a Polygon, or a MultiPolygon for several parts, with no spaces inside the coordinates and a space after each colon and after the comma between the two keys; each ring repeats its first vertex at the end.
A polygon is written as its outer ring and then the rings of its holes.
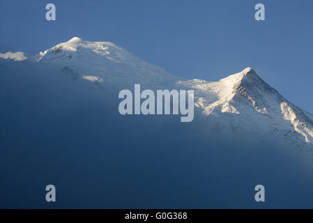
{"type": "Polygon", "coordinates": [[[36,54],[73,36],[121,45],[174,75],[215,81],[250,66],[313,113],[313,1],[0,2],[0,52],[36,54]],[[56,21],[45,5],[56,5],[56,21]],[[264,3],[266,20],[254,20],[264,3]]]}

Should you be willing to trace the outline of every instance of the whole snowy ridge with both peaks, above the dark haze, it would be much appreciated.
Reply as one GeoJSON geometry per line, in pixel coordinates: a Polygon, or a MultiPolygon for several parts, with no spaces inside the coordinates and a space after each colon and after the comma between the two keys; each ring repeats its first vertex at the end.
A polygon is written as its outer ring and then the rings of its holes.
{"type": "MultiPolygon", "coordinates": [[[[217,82],[183,79],[163,68],[146,63],[127,49],[110,42],[90,42],[74,37],[31,61],[34,66],[54,68],[70,75],[72,82],[88,82],[115,89],[192,89],[194,105],[211,122],[211,132],[220,126],[224,134],[263,132],[287,144],[312,151],[313,116],[293,105],[264,82],[253,68],[245,68],[217,82]]],[[[216,133],[219,134],[219,133],[216,133]]]]}

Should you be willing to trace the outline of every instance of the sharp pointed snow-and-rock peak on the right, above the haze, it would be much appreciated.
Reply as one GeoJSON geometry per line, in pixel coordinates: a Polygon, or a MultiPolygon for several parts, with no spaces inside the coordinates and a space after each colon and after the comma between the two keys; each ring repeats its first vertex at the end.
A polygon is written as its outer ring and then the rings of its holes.
{"type": "Polygon", "coordinates": [[[267,132],[298,147],[302,142],[310,144],[306,150],[313,148],[312,115],[282,97],[252,68],[218,82],[192,79],[178,84],[194,89],[195,106],[205,116],[214,117],[211,122],[228,126],[235,135],[267,132]]]}

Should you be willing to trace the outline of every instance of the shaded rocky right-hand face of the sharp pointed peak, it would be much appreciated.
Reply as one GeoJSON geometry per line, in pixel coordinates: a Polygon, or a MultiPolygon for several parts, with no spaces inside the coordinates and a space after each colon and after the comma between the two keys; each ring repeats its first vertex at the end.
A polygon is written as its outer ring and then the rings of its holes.
{"type": "Polygon", "coordinates": [[[303,135],[306,142],[313,142],[312,119],[266,84],[254,70],[247,72],[241,82],[234,86],[234,92],[234,104],[246,100],[256,112],[268,116],[272,126],[294,130],[303,135]]]}

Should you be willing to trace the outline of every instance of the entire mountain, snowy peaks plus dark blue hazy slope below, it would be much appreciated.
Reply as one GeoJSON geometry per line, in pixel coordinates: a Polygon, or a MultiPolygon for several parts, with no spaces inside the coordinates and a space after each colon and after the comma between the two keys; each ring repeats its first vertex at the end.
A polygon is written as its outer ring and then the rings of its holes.
{"type": "MultiPolygon", "coordinates": [[[[277,199],[269,206],[310,206],[312,171],[299,160],[312,160],[313,116],[252,68],[218,82],[187,80],[114,43],[77,37],[25,55],[0,54],[0,175],[7,179],[0,195],[11,206],[14,192],[31,184],[26,192],[40,203],[37,192],[51,181],[62,185],[63,197],[74,206],[81,198],[72,197],[90,189],[79,207],[94,207],[96,201],[107,208],[251,207],[253,199],[245,193],[260,182],[277,199]],[[118,93],[133,91],[134,84],[193,89],[194,121],[121,116],[118,93]],[[22,185],[12,187],[17,178],[22,185]],[[290,185],[280,190],[282,182],[290,185]],[[235,195],[226,185],[236,185],[235,195]],[[293,187],[296,198],[280,198],[293,187]],[[186,192],[192,195],[181,203],[186,192]]],[[[17,207],[31,206],[20,202],[17,207]]]]}

